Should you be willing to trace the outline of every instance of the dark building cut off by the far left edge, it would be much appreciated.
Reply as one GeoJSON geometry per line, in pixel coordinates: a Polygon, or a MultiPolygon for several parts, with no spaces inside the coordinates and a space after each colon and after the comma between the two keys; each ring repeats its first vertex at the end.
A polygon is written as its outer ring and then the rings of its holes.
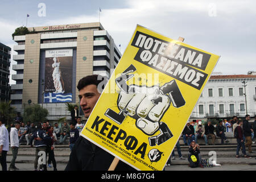
{"type": "Polygon", "coordinates": [[[1,101],[10,100],[10,63],[11,48],[0,43],[0,93],[1,101]]]}

